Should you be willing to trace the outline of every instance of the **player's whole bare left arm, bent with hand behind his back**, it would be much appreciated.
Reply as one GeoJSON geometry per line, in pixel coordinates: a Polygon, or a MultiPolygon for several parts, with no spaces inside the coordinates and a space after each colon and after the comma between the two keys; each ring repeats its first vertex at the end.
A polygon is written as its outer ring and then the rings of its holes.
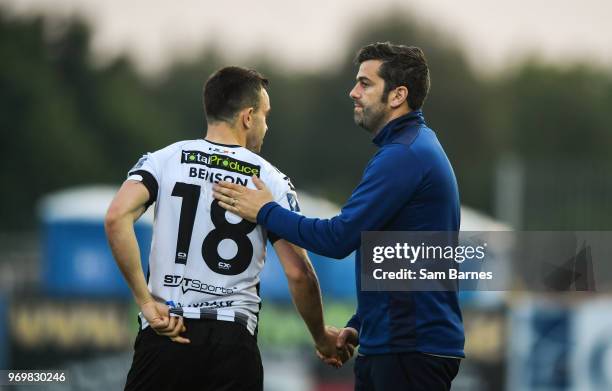
{"type": "Polygon", "coordinates": [[[173,341],[188,343],[178,335],[185,330],[183,319],[170,318],[167,307],[155,301],[142,270],[134,223],[145,212],[149,198],[149,191],[141,182],[125,181],[106,212],[104,229],[117,266],[151,327],[173,341]]]}

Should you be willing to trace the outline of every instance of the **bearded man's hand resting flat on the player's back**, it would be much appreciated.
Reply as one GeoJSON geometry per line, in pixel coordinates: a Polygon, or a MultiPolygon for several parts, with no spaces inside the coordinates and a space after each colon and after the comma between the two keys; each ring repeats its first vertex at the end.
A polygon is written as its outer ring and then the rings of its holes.
{"type": "Polygon", "coordinates": [[[274,199],[261,179],[253,175],[252,180],[257,190],[235,183],[219,182],[213,187],[213,196],[224,209],[256,223],[261,207],[274,199]]]}

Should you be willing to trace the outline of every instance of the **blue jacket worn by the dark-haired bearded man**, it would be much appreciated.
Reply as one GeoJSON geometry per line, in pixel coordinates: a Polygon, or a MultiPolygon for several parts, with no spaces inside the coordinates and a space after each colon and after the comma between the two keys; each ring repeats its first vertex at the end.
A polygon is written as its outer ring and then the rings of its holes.
{"type": "Polygon", "coordinates": [[[270,202],[257,222],[315,253],[344,258],[357,250],[357,312],[365,355],[424,352],[464,357],[457,292],[361,291],[363,231],[459,231],[460,204],[453,168],[420,110],[390,121],[373,142],[380,147],[339,215],[307,218],[270,202]]]}

